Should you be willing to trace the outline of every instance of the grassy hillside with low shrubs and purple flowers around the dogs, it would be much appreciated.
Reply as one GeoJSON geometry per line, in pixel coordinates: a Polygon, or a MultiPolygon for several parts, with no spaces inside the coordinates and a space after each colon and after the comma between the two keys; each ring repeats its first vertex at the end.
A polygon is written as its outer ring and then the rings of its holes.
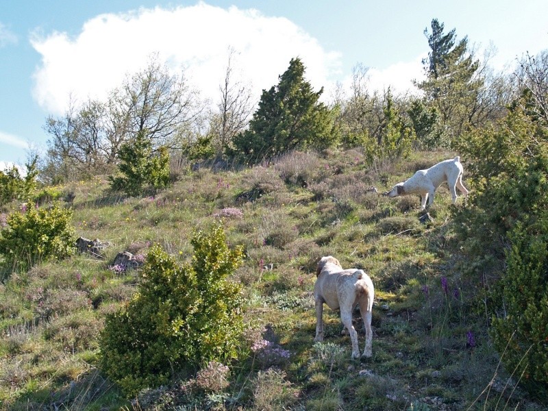
{"type": "MultiPolygon", "coordinates": [[[[108,242],[105,258],[78,254],[0,284],[0,403],[6,410],[542,410],[514,389],[488,338],[479,282],[463,275],[447,186],[423,224],[418,197],[379,192],[455,153],[414,153],[364,165],[360,151],[292,153],[241,171],[204,167],[154,197],[127,198],[105,179],[69,184],[77,236],[108,242]],[[129,299],[139,270],[116,253],[153,243],[181,261],[195,229],[222,221],[245,248],[247,330],[240,360],[204,364],[129,402],[97,369],[105,313],[129,299]],[[332,255],[375,284],[373,357],[351,360],[338,313],[325,308],[314,344],[316,262],[332,255]],[[269,341],[267,345],[265,341],[269,341]],[[225,382],[225,378],[226,382],[225,382]],[[220,383],[221,381],[222,383],[220,383]]],[[[469,182],[464,184],[470,187],[469,182]]],[[[5,212],[17,212],[12,204],[5,212]]],[[[360,349],[364,334],[355,315],[360,349]]]]}

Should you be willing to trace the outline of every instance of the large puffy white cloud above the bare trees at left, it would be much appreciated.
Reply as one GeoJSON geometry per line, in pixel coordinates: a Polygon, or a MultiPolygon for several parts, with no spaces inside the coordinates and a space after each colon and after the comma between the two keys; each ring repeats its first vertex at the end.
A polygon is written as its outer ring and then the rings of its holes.
{"type": "Polygon", "coordinates": [[[277,84],[291,58],[301,58],[314,89],[333,82],[340,68],[338,53],[325,51],[286,18],[206,3],[101,14],[74,38],[59,32],[35,35],[32,45],[42,55],[34,73],[34,98],[55,114],[66,110],[69,95],[79,101],[105,97],[155,52],[171,69],[185,67],[190,82],[213,100],[219,96],[229,47],[238,52],[236,69],[257,97],[277,84]]]}

